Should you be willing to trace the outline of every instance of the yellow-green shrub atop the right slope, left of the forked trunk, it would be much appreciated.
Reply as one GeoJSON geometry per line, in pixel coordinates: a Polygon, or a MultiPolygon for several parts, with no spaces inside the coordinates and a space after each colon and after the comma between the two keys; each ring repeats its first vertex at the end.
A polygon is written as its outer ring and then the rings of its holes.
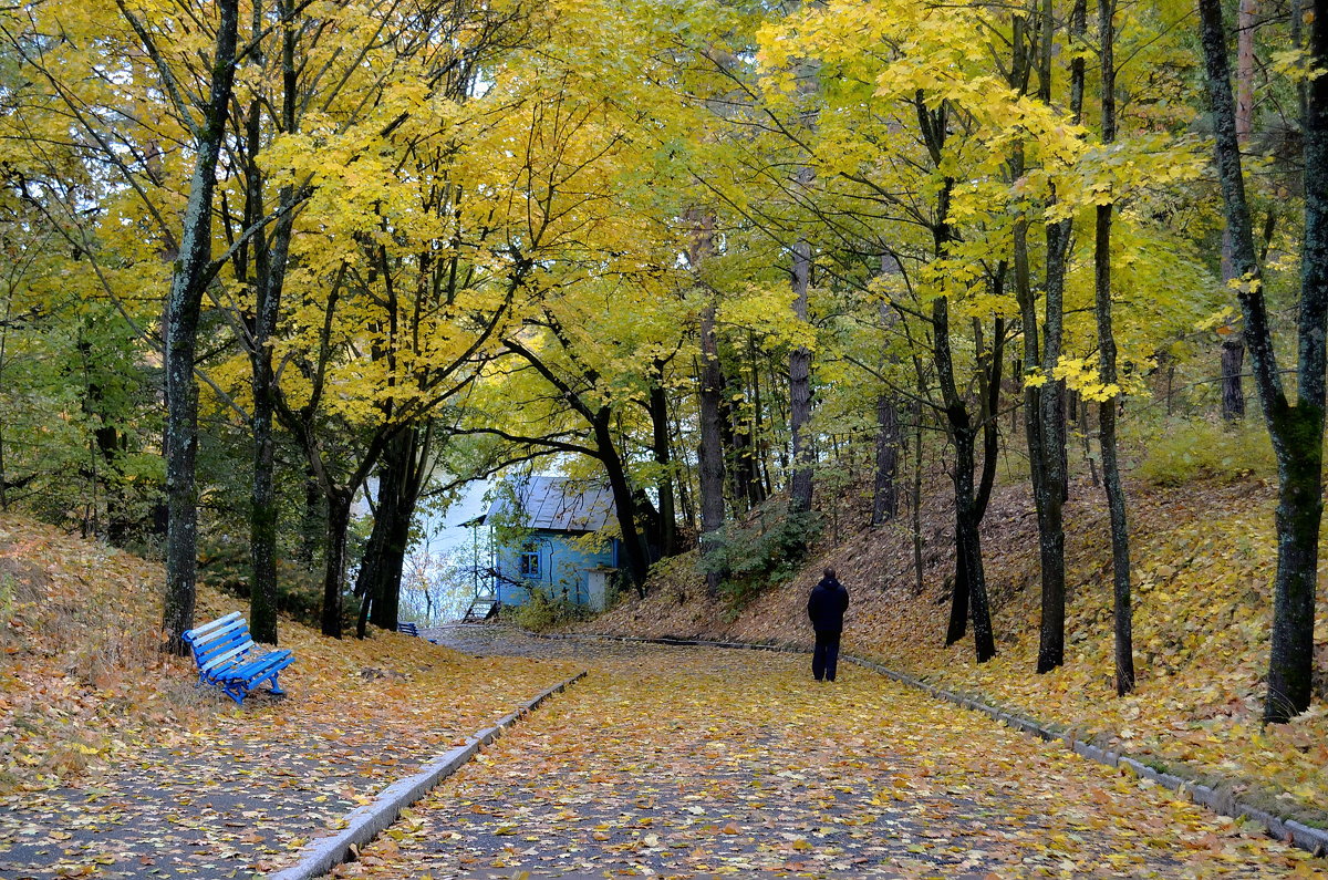
{"type": "Polygon", "coordinates": [[[1138,473],[1154,485],[1182,485],[1199,477],[1242,480],[1278,472],[1268,432],[1258,416],[1239,424],[1215,420],[1165,423],[1145,447],[1138,473]]]}

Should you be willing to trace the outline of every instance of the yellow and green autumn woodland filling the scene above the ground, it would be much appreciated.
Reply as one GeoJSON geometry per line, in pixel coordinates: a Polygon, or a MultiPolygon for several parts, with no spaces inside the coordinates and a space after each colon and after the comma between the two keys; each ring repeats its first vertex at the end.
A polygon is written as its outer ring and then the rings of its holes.
{"type": "Polygon", "coordinates": [[[260,641],[394,627],[417,509],[495,475],[606,483],[623,592],[683,556],[734,613],[845,497],[922,593],[943,496],[980,665],[1020,484],[1052,673],[1073,485],[1125,695],[1122,468],[1266,480],[1240,622],[1262,719],[1315,715],[1325,7],[7,7],[0,509],[161,554],[179,650],[201,572],[260,641]]]}

